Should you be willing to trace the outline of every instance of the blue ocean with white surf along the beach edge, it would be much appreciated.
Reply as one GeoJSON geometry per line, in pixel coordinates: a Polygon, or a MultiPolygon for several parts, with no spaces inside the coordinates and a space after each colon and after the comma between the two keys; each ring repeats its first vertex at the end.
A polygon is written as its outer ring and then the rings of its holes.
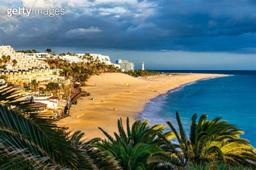
{"type": "Polygon", "coordinates": [[[177,127],[176,111],[189,134],[194,113],[208,119],[221,116],[245,131],[241,137],[256,147],[256,71],[237,70],[158,70],[165,73],[217,73],[231,76],[199,80],[170,90],[145,105],[140,119],[151,124],[172,122],[177,127]]]}

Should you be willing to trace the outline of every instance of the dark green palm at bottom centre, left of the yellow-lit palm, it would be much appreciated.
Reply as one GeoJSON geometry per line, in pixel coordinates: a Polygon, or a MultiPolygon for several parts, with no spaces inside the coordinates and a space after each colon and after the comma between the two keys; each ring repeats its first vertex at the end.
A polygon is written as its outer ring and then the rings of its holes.
{"type": "MultiPolygon", "coordinates": [[[[109,133],[99,128],[108,140],[99,143],[98,148],[106,152],[122,165],[124,169],[145,169],[150,168],[146,160],[152,153],[160,152],[159,147],[164,141],[157,137],[157,133],[163,134],[164,125],[156,124],[152,127],[147,124],[149,121],[136,121],[130,129],[129,118],[126,119],[126,132],[122,119],[118,120],[118,133],[114,132],[114,138],[109,133]]],[[[164,133],[169,138],[169,132],[164,133]]]]}

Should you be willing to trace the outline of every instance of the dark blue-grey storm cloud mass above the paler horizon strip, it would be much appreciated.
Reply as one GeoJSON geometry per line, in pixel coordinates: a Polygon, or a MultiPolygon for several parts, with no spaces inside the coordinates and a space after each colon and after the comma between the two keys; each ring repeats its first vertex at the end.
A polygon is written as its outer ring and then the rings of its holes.
{"type": "Polygon", "coordinates": [[[255,52],[255,1],[70,2],[62,17],[3,19],[0,44],[255,52]]]}

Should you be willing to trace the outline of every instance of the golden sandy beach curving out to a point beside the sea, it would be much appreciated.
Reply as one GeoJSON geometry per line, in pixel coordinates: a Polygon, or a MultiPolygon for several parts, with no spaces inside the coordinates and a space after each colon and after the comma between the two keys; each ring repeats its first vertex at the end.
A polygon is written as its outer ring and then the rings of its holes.
{"type": "Polygon", "coordinates": [[[72,131],[81,130],[88,138],[104,138],[98,127],[113,134],[117,131],[118,118],[126,120],[129,116],[130,122],[133,123],[134,117],[143,111],[151,98],[188,82],[219,76],[226,75],[174,74],[142,79],[122,73],[95,75],[90,77],[84,87],[91,96],[81,97],[77,105],[72,105],[70,116],[61,119],[58,124],[72,131]]]}

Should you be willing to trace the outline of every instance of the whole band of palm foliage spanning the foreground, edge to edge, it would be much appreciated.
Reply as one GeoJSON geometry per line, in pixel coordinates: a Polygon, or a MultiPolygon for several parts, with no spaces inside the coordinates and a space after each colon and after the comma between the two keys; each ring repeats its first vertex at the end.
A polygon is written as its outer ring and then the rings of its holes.
{"type": "Polygon", "coordinates": [[[119,119],[114,136],[86,139],[46,119],[13,87],[0,89],[0,169],[255,169],[255,149],[236,126],[207,115],[151,125],[119,119]],[[178,127],[178,129],[176,128],[178,127]]]}

